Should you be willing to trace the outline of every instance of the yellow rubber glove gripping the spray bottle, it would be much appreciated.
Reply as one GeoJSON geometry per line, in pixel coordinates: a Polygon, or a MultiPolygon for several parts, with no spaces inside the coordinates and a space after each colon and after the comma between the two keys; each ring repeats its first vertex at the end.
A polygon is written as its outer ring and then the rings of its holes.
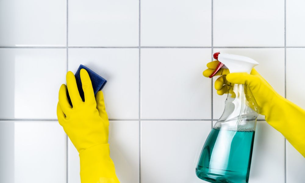
{"type": "MultiPolygon", "coordinates": [[[[209,77],[216,68],[218,61],[207,64],[203,71],[209,77]]],[[[216,75],[222,75],[215,81],[217,94],[228,93],[228,84],[246,84],[250,88],[258,106],[260,114],[265,115],[268,124],[293,145],[305,157],[305,110],[279,95],[267,81],[255,70],[250,74],[231,73],[228,69],[221,69],[216,75]]]]}

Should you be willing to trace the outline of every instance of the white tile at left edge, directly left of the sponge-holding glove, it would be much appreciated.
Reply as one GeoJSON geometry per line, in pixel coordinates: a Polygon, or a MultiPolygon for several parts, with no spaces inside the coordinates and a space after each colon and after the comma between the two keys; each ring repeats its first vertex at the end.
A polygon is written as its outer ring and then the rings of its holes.
{"type": "Polygon", "coordinates": [[[0,65],[0,118],[57,118],[66,49],[0,48],[0,65]]]}

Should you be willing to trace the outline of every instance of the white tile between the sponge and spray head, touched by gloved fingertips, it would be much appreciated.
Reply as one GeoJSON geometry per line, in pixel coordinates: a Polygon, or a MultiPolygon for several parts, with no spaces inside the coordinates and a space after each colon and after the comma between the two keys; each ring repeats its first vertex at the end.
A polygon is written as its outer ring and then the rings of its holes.
{"type": "Polygon", "coordinates": [[[141,118],[210,119],[210,48],[141,49],[141,118]]]}

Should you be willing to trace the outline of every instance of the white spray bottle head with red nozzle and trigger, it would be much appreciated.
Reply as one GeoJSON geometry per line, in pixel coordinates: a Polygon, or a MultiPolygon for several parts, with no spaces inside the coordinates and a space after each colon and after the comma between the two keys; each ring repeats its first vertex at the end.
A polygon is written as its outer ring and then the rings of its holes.
{"type": "Polygon", "coordinates": [[[213,77],[221,68],[229,69],[230,73],[246,72],[250,74],[252,68],[257,66],[257,61],[240,55],[216,52],[213,54],[214,59],[219,61],[217,68],[210,75],[213,77]]]}

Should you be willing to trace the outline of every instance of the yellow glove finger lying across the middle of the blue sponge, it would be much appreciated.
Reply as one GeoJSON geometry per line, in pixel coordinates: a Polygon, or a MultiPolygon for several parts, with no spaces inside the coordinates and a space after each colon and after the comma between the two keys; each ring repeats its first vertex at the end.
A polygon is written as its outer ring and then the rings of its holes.
{"type": "Polygon", "coordinates": [[[94,91],[87,70],[81,69],[80,75],[81,75],[81,85],[84,91],[85,102],[95,104],[94,91]]]}

